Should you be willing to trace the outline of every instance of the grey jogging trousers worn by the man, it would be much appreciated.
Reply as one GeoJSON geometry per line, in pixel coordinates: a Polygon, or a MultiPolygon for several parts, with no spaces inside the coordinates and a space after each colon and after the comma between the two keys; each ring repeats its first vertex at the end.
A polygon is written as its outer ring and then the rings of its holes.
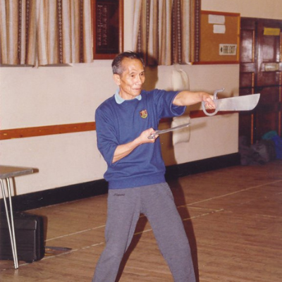
{"type": "Polygon", "coordinates": [[[174,282],[195,282],[190,245],[167,183],[109,190],[106,247],[92,282],[116,281],[121,260],[141,213],[147,216],[152,226],[174,282]]]}

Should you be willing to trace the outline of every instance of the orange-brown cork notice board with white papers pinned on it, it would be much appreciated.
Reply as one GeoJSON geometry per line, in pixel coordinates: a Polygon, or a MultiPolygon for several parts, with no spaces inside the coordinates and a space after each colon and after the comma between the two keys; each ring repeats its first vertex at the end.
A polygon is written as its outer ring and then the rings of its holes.
{"type": "Polygon", "coordinates": [[[201,11],[199,63],[239,63],[240,14],[201,11]]]}

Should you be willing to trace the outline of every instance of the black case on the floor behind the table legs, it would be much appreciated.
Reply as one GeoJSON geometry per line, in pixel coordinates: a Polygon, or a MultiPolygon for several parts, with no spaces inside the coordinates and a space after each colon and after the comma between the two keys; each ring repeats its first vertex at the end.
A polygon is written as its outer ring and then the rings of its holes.
{"type": "MultiPolygon", "coordinates": [[[[34,262],[44,257],[44,217],[28,213],[14,213],[18,260],[34,262]]],[[[12,259],[11,240],[6,214],[0,219],[0,259],[12,259]]]]}

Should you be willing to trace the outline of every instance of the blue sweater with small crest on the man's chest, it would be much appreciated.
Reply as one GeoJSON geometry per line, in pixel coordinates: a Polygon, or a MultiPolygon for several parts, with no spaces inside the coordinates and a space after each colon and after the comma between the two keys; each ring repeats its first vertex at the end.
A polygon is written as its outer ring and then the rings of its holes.
{"type": "Polygon", "coordinates": [[[172,104],[176,94],[175,91],[142,90],[140,100],[125,100],[118,104],[113,96],[97,108],[97,145],[108,165],[104,178],[109,182],[109,189],[165,182],[159,138],[154,143],[138,146],[114,164],[112,160],[118,145],[133,141],[148,128],[157,130],[161,118],[180,116],[185,112],[185,106],[172,104]]]}

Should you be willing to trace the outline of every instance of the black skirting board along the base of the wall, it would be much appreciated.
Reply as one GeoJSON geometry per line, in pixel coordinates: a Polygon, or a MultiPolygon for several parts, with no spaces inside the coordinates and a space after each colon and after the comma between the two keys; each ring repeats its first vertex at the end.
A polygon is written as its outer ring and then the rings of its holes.
{"type": "MultiPolygon", "coordinates": [[[[240,154],[228,154],[200,161],[191,161],[185,164],[166,166],[166,180],[173,180],[183,176],[189,176],[206,171],[214,171],[220,168],[240,165],[240,154]]],[[[108,192],[106,180],[93,180],[87,183],[78,183],[61,188],[54,188],[44,191],[27,193],[13,196],[13,209],[18,212],[29,209],[47,207],[53,204],[71,202],[103,195],[108,192]]],[[[0,199],[0,211],[4,211],[4,201],[0,199]]]]}

